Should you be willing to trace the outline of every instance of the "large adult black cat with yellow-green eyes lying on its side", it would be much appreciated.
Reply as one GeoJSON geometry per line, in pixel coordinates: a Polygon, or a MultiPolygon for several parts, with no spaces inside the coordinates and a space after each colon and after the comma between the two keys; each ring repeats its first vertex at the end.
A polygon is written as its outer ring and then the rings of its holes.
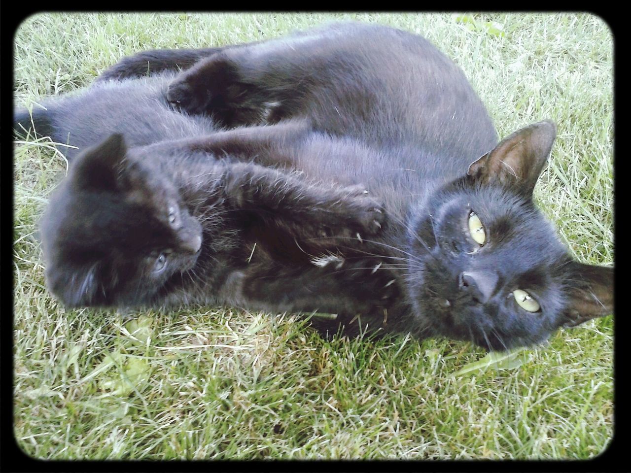
{"type": "Polygon", "coordinates": [[[190,68],[170,83],[168,102],[187,119],[212,115],[236,128],[158,148],[363,183],[386,209],[379,235],[338,238],[334,254],[314,260],[324,272],[256,237],[265,257],[247,275],[233,273],[239,290],[225,289],[247,294],[248,304],[283,310],[292,299],[298,310],[337,312],[331,330],[411,331],[487,349],[534,344],[611,313],[613,268],[574,261],[532,201],[555,125],[540,122],[497,144],[463,73],[427,40],[341,24],[181,56],[144,52],[101,80],[179,66],[190,68]],[[340,274],[351,275],[342,288],[333,282],[340,274]],[[382,285],[394,295],[386,303],[353,305],[381,296],[382,285]]]}

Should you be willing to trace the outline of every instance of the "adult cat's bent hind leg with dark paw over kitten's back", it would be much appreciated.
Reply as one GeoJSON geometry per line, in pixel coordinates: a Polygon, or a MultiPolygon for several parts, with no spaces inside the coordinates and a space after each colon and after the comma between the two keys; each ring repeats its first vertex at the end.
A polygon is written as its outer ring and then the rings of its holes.
{"type": "Polygon", "coordinates": [[[308,54],[309,42],[318,40],[302,38],[298,50],[292,38],[223,50],[179,74],[167,100],[189,114],[212,112],[227,127],[292,117],[320,86],[324,69],[327,83],[336,70],[326,50],[308,54]]]}

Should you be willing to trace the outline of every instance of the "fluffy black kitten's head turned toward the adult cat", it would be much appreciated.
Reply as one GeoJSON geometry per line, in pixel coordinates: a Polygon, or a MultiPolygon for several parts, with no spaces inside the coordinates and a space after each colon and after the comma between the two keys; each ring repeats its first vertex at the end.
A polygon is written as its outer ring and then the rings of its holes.
{"type": "Polygon", "coordinates": [[[135,158],[120,134],[86,149],[41,222],[45,276],[69,307],[129,307],[192,268],[202,242],[168,176],[135,158]]]}

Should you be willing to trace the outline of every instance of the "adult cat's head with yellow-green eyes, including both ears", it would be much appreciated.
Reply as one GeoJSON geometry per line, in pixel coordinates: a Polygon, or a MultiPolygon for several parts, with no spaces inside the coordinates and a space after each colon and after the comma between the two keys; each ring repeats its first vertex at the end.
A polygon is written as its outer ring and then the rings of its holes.
{"type": "Polygon", "coordinates": [[[438,190],[410,228],[409,290],[421,327],[507,349],[613,310],[613,267],[575,261],[533,204],[556,136],[510,135],[438,190]]]}

